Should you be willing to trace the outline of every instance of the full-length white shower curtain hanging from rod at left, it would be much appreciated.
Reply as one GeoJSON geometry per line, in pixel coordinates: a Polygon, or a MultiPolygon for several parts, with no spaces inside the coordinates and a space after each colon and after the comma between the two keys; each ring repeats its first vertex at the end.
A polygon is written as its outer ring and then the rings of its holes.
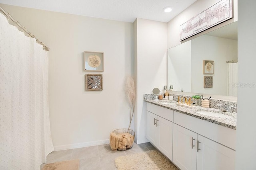
{"type": "Polygon", "coordinates": [[[0,14],[0,169],[39,170],[53,149],[48,52],[0,14]]]}

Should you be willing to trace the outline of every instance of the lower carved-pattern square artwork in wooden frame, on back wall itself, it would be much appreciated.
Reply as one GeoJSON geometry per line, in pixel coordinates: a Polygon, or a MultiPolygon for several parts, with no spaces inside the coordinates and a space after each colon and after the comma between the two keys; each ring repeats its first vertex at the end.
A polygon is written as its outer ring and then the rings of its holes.
{"type": "Polygon", "coordinates": [[[101,91],[102,90],[102,74],[86,74],[85,90],[101,91]]]}

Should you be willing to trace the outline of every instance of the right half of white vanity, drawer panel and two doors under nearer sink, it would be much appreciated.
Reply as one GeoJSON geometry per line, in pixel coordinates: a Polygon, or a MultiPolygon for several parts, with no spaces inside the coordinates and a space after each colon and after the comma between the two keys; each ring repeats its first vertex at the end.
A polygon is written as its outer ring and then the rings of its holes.
{"type": "Polygon", "coordinates": [[[181,170],[234,170],[235,135],[234,129],[174,111],[172,161],[181,170]]]}

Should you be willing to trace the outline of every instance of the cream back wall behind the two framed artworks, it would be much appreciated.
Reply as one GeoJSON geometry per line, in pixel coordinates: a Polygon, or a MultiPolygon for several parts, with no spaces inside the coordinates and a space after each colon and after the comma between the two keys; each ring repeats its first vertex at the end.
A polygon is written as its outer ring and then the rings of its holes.
{"type": "Polygon", "coordinates": [[[55,149],[109,143],[111,131],[128,128],[124,80],[134,70],[133,23],[1,7],[50,47],[50,127],[55,149]],[[104,72],[83,70],[84,51],[104,52],[104,72]],[[103,74],[103,91],[85,91],[85,74],[103,74]]]}

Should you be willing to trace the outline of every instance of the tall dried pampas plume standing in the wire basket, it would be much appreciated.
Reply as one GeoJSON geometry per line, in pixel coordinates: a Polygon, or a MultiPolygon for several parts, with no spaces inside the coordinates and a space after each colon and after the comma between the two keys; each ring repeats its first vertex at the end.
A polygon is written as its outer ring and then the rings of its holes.
{"type": "Polygon", "coordinates": [[[126,76],[125,82],[125,94],[127,96],[128,102],[130,104],[130,120],[129,120],[129,127],[128,131],[130,131],[132,117],[134,114],[134,107],[135,107],[135,80],[132,76],[126,76]]]}

